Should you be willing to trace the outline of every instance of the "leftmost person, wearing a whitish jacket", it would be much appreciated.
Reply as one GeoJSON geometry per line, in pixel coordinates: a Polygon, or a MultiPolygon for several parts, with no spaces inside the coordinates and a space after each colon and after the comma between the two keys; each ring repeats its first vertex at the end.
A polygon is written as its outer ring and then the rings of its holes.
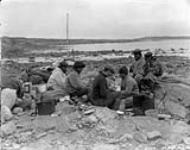
{"type": "Polygon", "coordinates": [[[68,64],[65,61],[59,63],[58,67],[52,72],[47,82],[48,89],[64,90],[67,67],[68,64]]]}

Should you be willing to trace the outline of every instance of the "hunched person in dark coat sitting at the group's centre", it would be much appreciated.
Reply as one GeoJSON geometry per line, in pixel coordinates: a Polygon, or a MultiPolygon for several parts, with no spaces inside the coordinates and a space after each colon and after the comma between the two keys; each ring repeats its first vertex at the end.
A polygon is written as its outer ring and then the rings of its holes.
{"type": "Polygon", "coordinates": [[[92,91],[89,99],[95,106],[102,106],[108,108],[114,108],[118,92],[115,92],[108,87],[106,78],[112,76],[114,70],[111,66],[106,66],[99,74],[95,77],[92,85],[92,91]]]}

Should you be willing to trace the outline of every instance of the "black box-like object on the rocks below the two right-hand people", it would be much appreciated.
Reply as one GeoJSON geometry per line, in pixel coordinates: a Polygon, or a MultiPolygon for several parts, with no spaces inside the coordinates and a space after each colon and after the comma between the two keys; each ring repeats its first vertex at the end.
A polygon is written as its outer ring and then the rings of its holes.
{"type": "Polygon", "coordinates": [[[133,108],[137,114],[144,115],[144,112],[148,109],[154,109],[154,99],[148,96],[134,96],[133,97],[133,108]]]}

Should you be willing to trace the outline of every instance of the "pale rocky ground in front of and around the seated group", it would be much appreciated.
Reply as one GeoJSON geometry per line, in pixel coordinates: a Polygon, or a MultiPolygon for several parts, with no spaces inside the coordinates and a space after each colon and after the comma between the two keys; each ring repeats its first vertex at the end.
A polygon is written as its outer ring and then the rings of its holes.
{"type": "MultiPolygon", "coordinates": [[[[2,150],[190,149],[190,60],[159,59],[165,70],[160,83],[167,93],[166,112],[170,118],[159,120],[156,111],[141,117],[131,113],[120,116],[108,108],[60,102],[52,116],[16,112],[12,120],[1,125],[2,150]]],[[[84,75],[93,74],[94,68],[106,63],[118,70],[131,59],[89,62],[84,75]]],[[[16,76],[26,67],[13,64],[1,66],[2,73],[16,76]]]]}

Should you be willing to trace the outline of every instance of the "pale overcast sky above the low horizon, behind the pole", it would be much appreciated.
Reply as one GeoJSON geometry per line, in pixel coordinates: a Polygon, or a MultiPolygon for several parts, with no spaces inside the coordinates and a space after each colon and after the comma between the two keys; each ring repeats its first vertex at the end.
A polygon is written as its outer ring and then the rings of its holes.
{"type": "Polygon", "coordinates": [[[2,0],[2,36],[128,39],[190,35],[190,0],[2,0]]]}

